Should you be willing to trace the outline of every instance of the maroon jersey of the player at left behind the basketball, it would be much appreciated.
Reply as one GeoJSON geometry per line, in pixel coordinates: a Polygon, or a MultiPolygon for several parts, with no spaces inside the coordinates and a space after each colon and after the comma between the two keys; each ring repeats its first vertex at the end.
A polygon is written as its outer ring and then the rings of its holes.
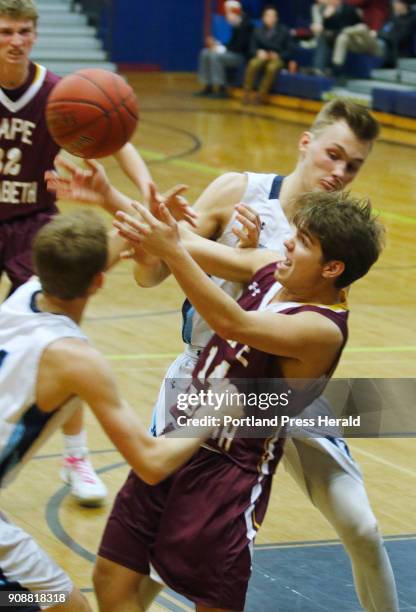
{"type": "Polygon", "coordinates": [[[0,221],[57,210],[43,175],[59,151],[45,120],[46,99],[58,80],[30,64],[22,87],[0,89],[0,221]]]}

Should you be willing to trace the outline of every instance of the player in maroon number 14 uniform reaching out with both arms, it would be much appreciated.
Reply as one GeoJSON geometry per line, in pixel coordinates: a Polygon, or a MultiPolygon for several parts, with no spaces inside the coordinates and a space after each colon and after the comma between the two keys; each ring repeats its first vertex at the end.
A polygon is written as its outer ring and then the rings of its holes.
{"type": "MultiPolygon", "coordinates": [[[[135,208],[140,220],[117,215],[122,236],[168,265],[216,332],[194,378],[228,377],[238,386],[239,378],[331,376],[347,339],[343,288],[366,274],[382,248],[383,231],[368,203],[340,193],[298,198],[295,235],[277,263],[275,252],[241,251],[196,236],[188,245],[191,257],[163,204],[159,220],[144,206],[135,208]],[[248,288],[237,303],[205,273],[248,288]]],[[[100,611],[145,609],[157,589],[150,577],[200,612],[243,610],[253,541],[281,454],[277,430],[262,440],[235,436],[228,447],[217,437],[161,485],[149,487],[131,473],[96,563],[100,611]]]]}

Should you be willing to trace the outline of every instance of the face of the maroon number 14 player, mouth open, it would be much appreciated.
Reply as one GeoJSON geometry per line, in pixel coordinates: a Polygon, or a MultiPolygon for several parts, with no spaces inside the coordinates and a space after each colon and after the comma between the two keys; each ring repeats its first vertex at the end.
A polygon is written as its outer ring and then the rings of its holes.
{"type": "Polygon", "coordinates": [[[313,293],[322,282],[325,266],[319,240],[307,231],[294,228],[285,241],[284,261],[276,264],[275,279],[295,294],[313,293]]]}

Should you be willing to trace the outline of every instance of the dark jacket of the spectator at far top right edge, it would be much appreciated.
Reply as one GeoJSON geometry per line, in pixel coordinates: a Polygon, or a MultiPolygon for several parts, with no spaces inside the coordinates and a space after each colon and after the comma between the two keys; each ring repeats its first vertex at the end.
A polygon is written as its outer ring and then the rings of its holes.
{"type": "Polygon", "coordinates": [[[416,13],[413,10],[407,15],[392,17],[378,33],[378,38],[386,43],[386,63],[394,65],[397,57],[413,55],[415,35],[416,13]]]}

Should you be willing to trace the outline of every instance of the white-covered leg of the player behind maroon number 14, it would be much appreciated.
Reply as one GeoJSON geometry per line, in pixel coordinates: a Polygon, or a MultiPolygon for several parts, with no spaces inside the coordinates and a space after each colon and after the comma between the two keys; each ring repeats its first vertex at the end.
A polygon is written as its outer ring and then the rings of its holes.
{"type": "Polygon", "coordinates": [[[351,560],[361,605],[368,612],[395,612],[393,571],[355,462],[346,449],[327,448],[333,442],[326,438],[319,439],[321,447],[301,439],[288,442],[289,472],[338,533],[351,560]],[[340,453],[338,461],[331,451],[340,453]]]}

